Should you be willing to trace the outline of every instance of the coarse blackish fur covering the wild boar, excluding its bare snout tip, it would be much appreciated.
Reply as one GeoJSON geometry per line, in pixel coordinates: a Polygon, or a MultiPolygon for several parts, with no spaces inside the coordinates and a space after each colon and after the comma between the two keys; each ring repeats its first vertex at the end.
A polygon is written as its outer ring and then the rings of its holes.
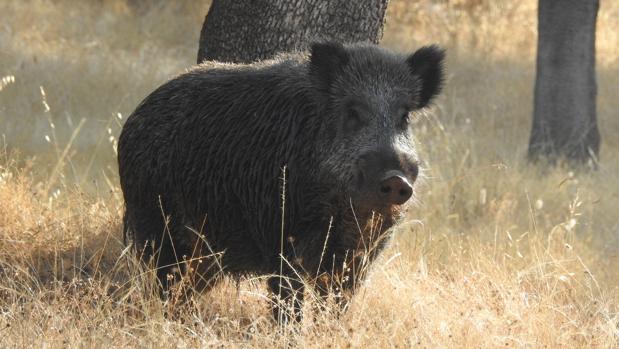
{"type": "Polygon", "coordinates": [[[401,212],[378,192],[385,171],[417,177],[408,113],[439,93],[443,58],[327,42],[170,80],[120,135],[125,234],[163,289],[176,271],[199,290],[273,275],[297,317],[299,277],[352,291],[401,212]]]}

